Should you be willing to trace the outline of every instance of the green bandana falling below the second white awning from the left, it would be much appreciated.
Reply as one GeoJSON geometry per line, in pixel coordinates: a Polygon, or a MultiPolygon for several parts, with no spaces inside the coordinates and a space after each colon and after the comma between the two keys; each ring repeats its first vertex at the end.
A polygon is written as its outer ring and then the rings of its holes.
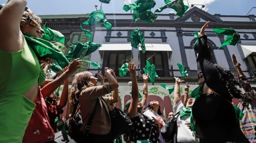
{"type": "Polygon", "coordinates": [[[146,61],[146,68],[143,68],[143,71],[149,75],[149,79],[153,85],[155,82],[155,78],[160,78],[157,76],[155,65],[150,64],[150,62],[148,62],[148,61],[146,61]]]}

